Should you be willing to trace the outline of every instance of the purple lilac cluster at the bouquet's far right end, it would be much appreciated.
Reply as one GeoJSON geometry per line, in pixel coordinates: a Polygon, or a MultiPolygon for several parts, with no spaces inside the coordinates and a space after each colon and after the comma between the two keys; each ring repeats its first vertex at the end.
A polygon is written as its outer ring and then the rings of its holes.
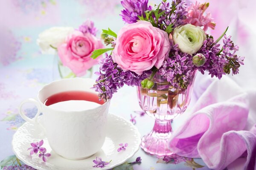
{"type": "Polygon", "coordinates": [[[222,75],[238,74],[240,64],[243,65],[244,57],[238,57],[236,51],[239,50],[238,45],[234,45],[231,41],[231,36],[224,35],[222,49],[220,44],[213,40],[213,37],[207,35],[207,40],[204,41],[203,46],[198,51],[205,56],[205,64],[198,68],[198,70],[204,74],[204,71],[208,71],[212,77],[218,77],[221,79],[222,75]]]}

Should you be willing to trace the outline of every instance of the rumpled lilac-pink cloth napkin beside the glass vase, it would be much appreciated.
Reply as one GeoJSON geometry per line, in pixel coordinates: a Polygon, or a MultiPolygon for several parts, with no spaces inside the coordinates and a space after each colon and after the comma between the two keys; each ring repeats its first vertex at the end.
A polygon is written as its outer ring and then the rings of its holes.
{"type": "Polygon", "coordinates": [[[201,157],[215,170],[223,170],[247,154],[244,169],[254,170],[256,126],[244,130],[249,113],[248,94],[229,77],[196,79],[196,82],[201,83],[201,86],[195,83],[195,91],[199,87],[199,92],[194,93],[198,99],[194,105],[191,103],[190,111],[178,118],[186,121],[174,131],[169,140],[170,149],[180,156],[201,157]],[[202,82],[207,85],[206,89],[200,88],[205,87],[202,82]]]}

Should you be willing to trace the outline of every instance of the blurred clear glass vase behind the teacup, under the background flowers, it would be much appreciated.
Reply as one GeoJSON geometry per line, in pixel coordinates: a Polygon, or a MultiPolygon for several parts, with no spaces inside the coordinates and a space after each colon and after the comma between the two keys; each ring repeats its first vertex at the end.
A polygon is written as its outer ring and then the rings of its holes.
{"type": "MultiPolygon", "coordinates": [[[[83,76],[80,76],[81,78],[92,78],[93,76],[93,67],[86,71],[86,73],[83,76]]],[[[76,74],[73,73],[73,71],[64,66],[61,62],[61,59],[58,57],[57,54],[54,56],[54,65],[53,65],[53,79],[70,79],[77,77],[76,74]]]]}

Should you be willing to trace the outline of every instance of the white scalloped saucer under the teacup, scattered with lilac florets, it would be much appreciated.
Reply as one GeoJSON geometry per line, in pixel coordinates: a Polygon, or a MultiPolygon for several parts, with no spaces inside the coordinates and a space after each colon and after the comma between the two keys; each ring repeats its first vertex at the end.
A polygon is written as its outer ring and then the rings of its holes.
{"type": "MultiPolygon", "coordinates": [[[[41,118],[39,117],[39,121],[42,120],[41,118]]],[[[69,160],[57,155],[49,146],[48,140],[41,130],[29,122],[22,125],[14,134],[12,149],[18,159],[38,170],[108,170],[134,156],[140,148],[140,142],[140,133],[131,122],[109,113],[105,143],[102,149],[90,158],[69,160]],[[43,147],[47,149],[47,153],[52,154],[47,162],[42,161],[38,154],[31,156],[27,151],[31,147],[30,143],[41,139],[44,139],[43,147]],[[128,143],[128,147],[124,151],[117,152],[120,143],[128,143]],[[95,168],[93,160],[96,159],[96,156],[101,157],[102,161],[112,161],[104,168],[95,168]]]]}

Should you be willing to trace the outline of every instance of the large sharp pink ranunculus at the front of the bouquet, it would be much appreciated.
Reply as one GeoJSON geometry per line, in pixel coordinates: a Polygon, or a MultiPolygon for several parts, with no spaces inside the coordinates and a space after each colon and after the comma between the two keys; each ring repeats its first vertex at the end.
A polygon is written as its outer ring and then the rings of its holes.
{"type": "Polygon", "coordinates": [[[147,21],[125,25],[117,35],[113,61],[123,70],[142,74],[160,68],[170,51],[168,34],[147,21]]]}

